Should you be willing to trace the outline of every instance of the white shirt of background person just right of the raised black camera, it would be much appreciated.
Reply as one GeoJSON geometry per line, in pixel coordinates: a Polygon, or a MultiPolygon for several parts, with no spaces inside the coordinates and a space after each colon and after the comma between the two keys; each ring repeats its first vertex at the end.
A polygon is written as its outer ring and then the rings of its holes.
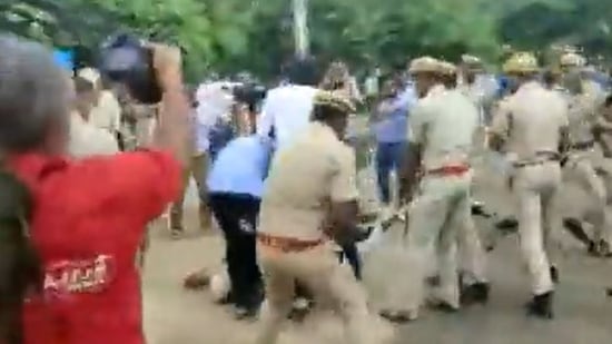
{"type": "Polygon", "coordinates": [[[196,109],[195,135],[196,150],[206,153],[210,147],[210,129],[219,120],[228,120],[234,105],[231,87],[234,83],[216,81],[201,83],[196,91],[198,107],[196,109]]]}

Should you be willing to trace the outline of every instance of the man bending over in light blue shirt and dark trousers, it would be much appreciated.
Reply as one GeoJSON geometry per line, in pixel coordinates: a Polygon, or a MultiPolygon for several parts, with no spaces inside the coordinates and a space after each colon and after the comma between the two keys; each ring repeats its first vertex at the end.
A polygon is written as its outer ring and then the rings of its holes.
{"type": "Polygon", "coordinates": [[[263,298],[256,224],[272,151],[268,138],[236,138],[219,151],[206,183],[213,214],[226,239],[230,302],[237,318],[254,316],[263,298]]]}

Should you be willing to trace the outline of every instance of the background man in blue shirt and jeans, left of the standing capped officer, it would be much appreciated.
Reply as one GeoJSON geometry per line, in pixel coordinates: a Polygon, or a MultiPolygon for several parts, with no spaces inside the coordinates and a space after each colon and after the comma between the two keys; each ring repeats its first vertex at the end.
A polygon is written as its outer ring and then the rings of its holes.
{"type": "Polygon", "coordinates": [[[388,81],[383,90],[383,100],[373,117],[373,129],[376,137],[376,177],[381,202],[391,203],[389,175],[397,173],[406,150],[407,120],[411,107],[417,97],[412,85],[402,88],[397,81],[388,81]]]}

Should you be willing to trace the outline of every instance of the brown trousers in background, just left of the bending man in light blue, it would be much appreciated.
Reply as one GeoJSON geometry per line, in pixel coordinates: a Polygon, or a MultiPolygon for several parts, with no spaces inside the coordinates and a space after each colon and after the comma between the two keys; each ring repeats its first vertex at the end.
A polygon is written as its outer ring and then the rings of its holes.
{"type": "Polygon", "coordinates": [[[185,202],[185,193],[189,185],[189,179],[193,177],[196,180],[200,194],[199,200],[199,225],[200,229],[205,230],[210,227],[211,215],[208,207],[208,200],[205,199],[206,195],[206,177],[208,173],[208,154],[203,153],[194,156],[189,166],[184,170],[182,175],[182,190],[179,198],[172,204],[170,208],[170,227],[172,229],[182,229],[182,205],[185,202]],[[204,196],[204,197],[203,197],[204,196]]]}

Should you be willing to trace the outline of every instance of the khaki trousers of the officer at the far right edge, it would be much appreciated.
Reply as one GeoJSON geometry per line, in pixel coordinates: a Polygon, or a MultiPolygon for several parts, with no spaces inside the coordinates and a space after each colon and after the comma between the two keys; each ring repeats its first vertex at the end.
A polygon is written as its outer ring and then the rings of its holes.
{"type": "Polygon", "coordinates": [[[608,195],[604,180],[593,166],[595,158],[591,151],[573,153],[564,167],[564,176],[567,183],[576,184],[589,195],[592,203],[585,219],[593,225],[593,240],[599,242],[610,239],[610,230],[605,222],[608,195]]]}

